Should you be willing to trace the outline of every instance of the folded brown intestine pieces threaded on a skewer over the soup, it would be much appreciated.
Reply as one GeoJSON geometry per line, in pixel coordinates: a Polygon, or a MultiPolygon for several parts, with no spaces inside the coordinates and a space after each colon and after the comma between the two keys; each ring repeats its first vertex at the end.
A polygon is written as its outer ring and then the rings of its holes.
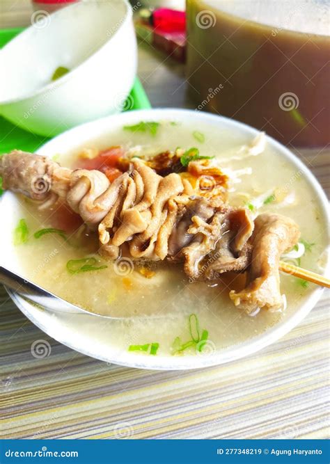
{"type": "MultiPolygon", "coordinates": [[[[207,161],[193,163],[195,170],[210,172],[207,161]]],[[[38,200],[41,208],[66,202],[98,230],[104,256],[183,261],[192,280],[249,269],[246,289],[230,292],[235,305],[249,313],[283,305],[278,262],[299,239],[290,218],[261,214],[253,223],[251,211],[230,207],[221,191],[205,198],[184,177],[162,177],[137,158],[109,182],[98,170],[62,168],[46,157],[15,150],[0,158],[0,175],[4,189],[38,200]]]]}

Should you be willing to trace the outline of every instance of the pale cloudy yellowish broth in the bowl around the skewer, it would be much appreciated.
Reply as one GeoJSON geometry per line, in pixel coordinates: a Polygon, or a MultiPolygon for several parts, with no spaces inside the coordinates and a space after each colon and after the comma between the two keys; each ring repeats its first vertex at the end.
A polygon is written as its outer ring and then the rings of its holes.
{"type": "MultiPolygon", "coordinates": [[[[327,235],[321,211],[317,209],[304,175],[267,145],[258,156],[244,156],[241,147],[249,143],[251,138],[232,129],[214,131],[207,125],[194,127],[189,122],[162,121],[157,134],[120,128],[114,130],[107,141],[91,141],[88,146],[79,146],[70,153],[54,155],[62,166],[70,167],[74,166],[83,148],[121,145],[125,150],[134,147],[138,154],[157,154],[178,146],[198,147],[201,155],[217,157],[219,166],[230,175],[230,205],[247,205],[258,212],[274,211],[290,216],[299,224],[301,237],[308,243],[300,264],[320,272],[327,235]],[[203,134],[199,141],[196,130],[203,134]],[[274,193],[276,201],[272,198],[274,193]],[[261,205],[260,198],[263,198],[261,205]]],[[[190,314],[196,314],[201,330],[208,331],[209,349],[224,349],[274,326],[285,312],[291,314],[297,310],[315,289],[313,284],[281,274],[281,292],[287,301],[284,312],[260,311],[251,317],[237,310],[228,297],[229,289],[244,285],[242,275],[224,275],[221,280],[209,283],[197,282],[187,278],[182,264],[166,260],[148,264],[121,257],[113,262],[97,254],[95,234],[84,230],[77,232],[79,224],[67,239],[52,233],[36,239],[33,234],[38,230],[62,228],[61,211],[58,206],[40,211],[31,200],[22,197],[19,202],[17,219],[24,218],[29,227],[29,239],[16,247],[24,275],[91,312],[125,318],[100,320],[100,333],[110,326],[109,344],[119,351],[127,351],[132,344],[157,342],[157,355],[173,354],[171,346],[175,337],[180,337],[182,342],[190,338],[190,314]],[[96,267],[107,267],[70,273],[68,262],[86,257],[94,257],[96,267]]],[[[195,354],[194,347],[184,351],[184,355],[195,354]]]]}

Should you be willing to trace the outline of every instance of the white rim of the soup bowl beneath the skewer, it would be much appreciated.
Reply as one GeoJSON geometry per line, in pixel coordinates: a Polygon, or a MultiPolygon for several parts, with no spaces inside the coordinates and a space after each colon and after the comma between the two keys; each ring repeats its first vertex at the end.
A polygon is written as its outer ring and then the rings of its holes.
{"type": "MultiPolygon", "coordinates": [[[[150,109],[139,111],[127,111],[116,116],[109,116],[97,121],[75,127],[64,134],[57,136],[52,141],[43,145],[38,154],[52,157],[56,153],[72,152],[81,147],[88,146],[88,142],[97,141],[100,144],[111,140],[111,132],[115,132],[117,128],[124,125],[133,125],[141,120],[146,121],[184,121],[193,122],[196,127],[207,123],[214,130],[229,130],[237,131],[237,135],[243,135],[254,138],[259,132],[252,127],[223,118],[210,113],[196,112],[182,109],[150,109]]],[[[326,227],[328,216],[328,202],[326,195],[322,191],[322,187],[317,182],[313,174],[297,157],[273,138],[267,136],[269,143],[278,157],[288,161],[296,172],[302,173],[306,182],[313,190],[313,198],[315,198],[315,207],[320,211],[320,217],[324,221],[326,227]]],[[[3,194],[0,200],[0,216],[7,218],[6,227],[1,229],[0,241],[0,257],[1,262],[7,265],[13,271],[20,272],[19,259],[17,250],[12,243],[12,234],[19,216],[15,214],[18,198],[11,192],[3,194]]],[[[328,262],[329,267],[329,262],[328,262]]],[[[275,342],[277,339],[288,333],[294,326],[306,317],[311,311],[317,300],[322,294],[322,288],[317,287],[311,290],[306,300],[294,312],[285,312],[283,319],[274,326],[267,329],[264,333],[246,339],[239,344],[233,344],[226,349],[218,349],[212,355],[196,356],[143,356],[136,355],[127,351],[126,353],[119,352],[116,347],[111,346],[111,327],[113,321],[105,320],[100,317],[93,317],[85,314],[54,314],[47,310],[42,310],[38,307],[26,302],[24,298],[10,291],[10,296],[15,304],[36,326],[47,333],[50,337],[58,340],[62,344],[70,348],[84,353],[93,358],[111,362],[113,364],[125,365],[128,367],[138,367],[141,369],[196,369],[199,367],[207,367],[211,365],[220,365],[224,362],[233,361],[243,358],[246,355],[259,351],[265,346],[275,342]],[[107,322],[106,322],[107,321],[107,322]]],[[[233,310],[235,310],[233,308],[233,310]]]]}

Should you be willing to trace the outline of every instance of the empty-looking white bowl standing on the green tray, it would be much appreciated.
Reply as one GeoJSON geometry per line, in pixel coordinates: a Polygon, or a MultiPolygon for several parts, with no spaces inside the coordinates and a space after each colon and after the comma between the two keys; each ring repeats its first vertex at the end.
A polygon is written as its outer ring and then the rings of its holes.
{"type": "Polygon", "coordinates": [[[31,22],[0,50],[1,115],[52,136],[119,113],[137,65],[128,1],[81,1],[52,15],[36,12],[31,22]],[[70,72],[52,81],[60,66],[70,72]]]}

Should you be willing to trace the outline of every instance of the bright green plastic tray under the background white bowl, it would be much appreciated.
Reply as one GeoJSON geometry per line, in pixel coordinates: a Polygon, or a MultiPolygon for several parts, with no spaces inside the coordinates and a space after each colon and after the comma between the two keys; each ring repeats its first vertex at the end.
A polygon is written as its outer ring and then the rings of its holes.
{"type": "MultiPolygon", "coordinates": [[[[0,48],[23,30],[24,29],[16,28],[3,29],[0,31],[0,48]]],[[[149,99],[138,77],[136,77],[134,86],[129,95],[129,105],[127,106],[129,106],[131,110],[151,108],[149,99]]],[[[35,152],[38,150],[38,147],[48,140],[49,138],[24,131],[0,116],[0,154],[10,152],[10,150],[14,150],[15,148],[26,152],[35,152]]]]}

